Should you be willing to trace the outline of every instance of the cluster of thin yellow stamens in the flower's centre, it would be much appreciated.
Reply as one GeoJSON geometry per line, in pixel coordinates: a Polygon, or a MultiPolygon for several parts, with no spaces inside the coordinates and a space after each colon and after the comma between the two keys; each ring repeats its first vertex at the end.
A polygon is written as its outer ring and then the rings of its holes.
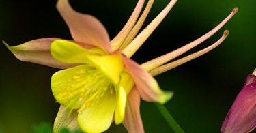
{"type": "Polygon", "coordinates": [[[68,108],[88,108],[100,101],[107,93],[115,93],[115,87],[111,80],[102,74],[97,68],[79,70],[68,79],[66,87],[67,97],[72,97],[68,108]]]}

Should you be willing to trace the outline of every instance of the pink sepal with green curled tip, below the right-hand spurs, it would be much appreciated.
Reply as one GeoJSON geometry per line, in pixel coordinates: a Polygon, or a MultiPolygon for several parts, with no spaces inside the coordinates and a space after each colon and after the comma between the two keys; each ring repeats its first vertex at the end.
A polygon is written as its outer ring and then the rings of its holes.
{"type": "Polygon", "coordinates": [[[156,80],[148,72],[143,70],[138,63],[128,59],[125,56],[122,57],[124,66],[128,72],[130,72],[130,75],[132,76],[143,100],[163,104],[171,98],[172,93],[169,91],[162,91],[156,80]]]}

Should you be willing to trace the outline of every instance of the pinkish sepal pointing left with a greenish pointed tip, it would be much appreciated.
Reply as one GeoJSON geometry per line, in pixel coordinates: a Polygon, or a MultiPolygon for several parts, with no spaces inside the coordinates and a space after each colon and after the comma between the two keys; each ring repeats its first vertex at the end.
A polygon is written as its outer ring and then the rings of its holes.
{"type": "Polygon", "coordinates": [[[5,44],[9,50],[20,61],[38,63],[40,65],[47,65],[53,68],[71,68],[76,64],[61,63],[55,60],[51,55],[51,42],[58,38],[42,38],[31,40],[20,44],[18,46],[9,46],[5,44]]]}

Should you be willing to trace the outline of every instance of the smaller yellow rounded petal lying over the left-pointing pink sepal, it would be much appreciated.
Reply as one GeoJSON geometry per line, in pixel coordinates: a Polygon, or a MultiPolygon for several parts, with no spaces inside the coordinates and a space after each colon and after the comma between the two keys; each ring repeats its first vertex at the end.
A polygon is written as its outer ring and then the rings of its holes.
{"type": "Polygon", "coordinates": [[[74,42],[55,40],[51,44],[51,55],[63,63],[87,63],[87,55],[100,55],[99,48],[87,50],[74,42]]]}

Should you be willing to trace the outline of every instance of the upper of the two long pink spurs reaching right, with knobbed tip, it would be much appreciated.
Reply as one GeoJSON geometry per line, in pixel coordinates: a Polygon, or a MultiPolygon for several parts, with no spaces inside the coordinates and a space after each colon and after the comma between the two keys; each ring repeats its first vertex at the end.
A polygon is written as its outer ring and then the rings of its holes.
{"type": "Polygon", "coordinates": [[[194,48],[198,44],[201,44],[201,42],[207,40],[212,35],[214,35],[214,33],[221,29],[221,27],[223,27],[223,25],[225,25],[225,23],[227,23],[227,21],[229,21],[230,18],[232,18],[236,14],[236,12],[238,12],[238,8],[233,8],[232,12],[229,14],[229,16],[227,16],[227,18],[225,18],[220,24],[214,27],[214,29],[212,29],[208,33],[205,33],[205,35],[201,36],[193,42],[190,42],[189,44],[186,44],[185,46],[182,46],[181,48],[178,48],[177,50],[173,50],[170,53],[143,63],[141,67],[149,72],[150,70],[153,70],[154,68],[157,68],[158,66],[163,65],[168,61],[171,61],[172,59],[175,59],[176,57],[186,53],[188,50],[194,48]]]}

